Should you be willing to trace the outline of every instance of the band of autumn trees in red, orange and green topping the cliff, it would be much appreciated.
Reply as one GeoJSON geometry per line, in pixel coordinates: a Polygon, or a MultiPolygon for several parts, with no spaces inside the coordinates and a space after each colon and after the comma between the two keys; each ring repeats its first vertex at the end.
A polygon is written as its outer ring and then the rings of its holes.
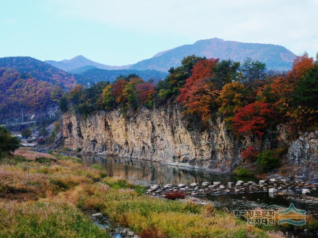
{"type": "Polygon", "coordinates": [[[120,107],[136,112],[173,102],[202,123],[220,115],[234,134],[261,137],[282,123],[291,133],[316,128],[317,85],[318,60],[307,54],[297,57],[287,73],[268,73],[264,63],[249,58],[240,64],[189,56],[156,86],[135,75],[119,77],[92,98],[78,85],[63,98],[62,110],[87,114],[120,107]]]}

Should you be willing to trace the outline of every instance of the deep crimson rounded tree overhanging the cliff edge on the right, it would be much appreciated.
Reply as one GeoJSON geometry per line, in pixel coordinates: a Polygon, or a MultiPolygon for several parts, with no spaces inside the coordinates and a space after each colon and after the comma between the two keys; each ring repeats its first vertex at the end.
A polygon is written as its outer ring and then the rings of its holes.
{"type": "Polygon", "coordinates": [[[269,103],[255,102],[240,108],[232,120],[239,133],[262,136],[274,117],[274,110],[269,103]]]}

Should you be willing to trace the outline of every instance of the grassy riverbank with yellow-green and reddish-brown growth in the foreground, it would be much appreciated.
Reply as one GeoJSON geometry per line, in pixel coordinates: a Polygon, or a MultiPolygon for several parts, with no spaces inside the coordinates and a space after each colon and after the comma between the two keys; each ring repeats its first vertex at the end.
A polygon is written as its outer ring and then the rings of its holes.
{"type": "Polygon", "coordinates": [[[141,238],[283,237],[248,227],[211,203],[149,197],[144,187],[106,177],[102,168],[83,167],[71,156],[19,153],[0,162],[0,237],[109,236],[85,215],[88,210],[141,238]]]}

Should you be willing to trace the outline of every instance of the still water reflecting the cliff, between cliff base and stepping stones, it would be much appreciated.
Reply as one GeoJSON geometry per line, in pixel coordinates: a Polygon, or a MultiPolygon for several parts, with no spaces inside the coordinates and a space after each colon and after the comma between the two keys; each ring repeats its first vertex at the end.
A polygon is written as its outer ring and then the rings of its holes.
{"type": "Polygon", "coordinates": [[[220,181],[226,184],[237,180],[228,175],[209,174],[200,170],[168,166],[152,161],[103,156],[82,156],[82,161],[84,166],[91,166],[92,164],[102,166],[107,176],[119,176],[131,182],[142,184],[190,184],[191,182],[212,181],[220,181]]]}

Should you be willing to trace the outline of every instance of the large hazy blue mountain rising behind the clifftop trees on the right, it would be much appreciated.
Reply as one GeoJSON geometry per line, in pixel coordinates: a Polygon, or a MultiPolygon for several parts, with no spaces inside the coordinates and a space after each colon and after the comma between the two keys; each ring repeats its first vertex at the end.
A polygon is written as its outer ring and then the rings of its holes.
{"type": "Polygon", "coordinates": [[[294,53],[279,45],[242,43],[211,38],[159,52],[153,58],[137,62],[130,68],[167,71],[170,67],[179,66],[183,57],[189,55],[231,59],[240,62],[249,57],[266,63],[267,68],[273,70],[289,70],[296,57],[294,53]]]}

